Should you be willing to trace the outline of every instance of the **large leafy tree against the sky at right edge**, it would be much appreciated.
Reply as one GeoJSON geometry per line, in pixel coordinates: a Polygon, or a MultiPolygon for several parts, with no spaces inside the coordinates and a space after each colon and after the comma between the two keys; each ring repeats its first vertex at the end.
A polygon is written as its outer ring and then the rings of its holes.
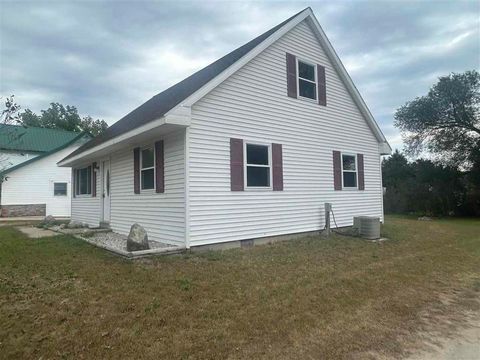
{"type": "Polygon", "coordinates": [[[440,161],[470,168],[480,149],[480,74],[441,77],[427,95],[395,113],[408,155],[428,151],[440,161]]]}

